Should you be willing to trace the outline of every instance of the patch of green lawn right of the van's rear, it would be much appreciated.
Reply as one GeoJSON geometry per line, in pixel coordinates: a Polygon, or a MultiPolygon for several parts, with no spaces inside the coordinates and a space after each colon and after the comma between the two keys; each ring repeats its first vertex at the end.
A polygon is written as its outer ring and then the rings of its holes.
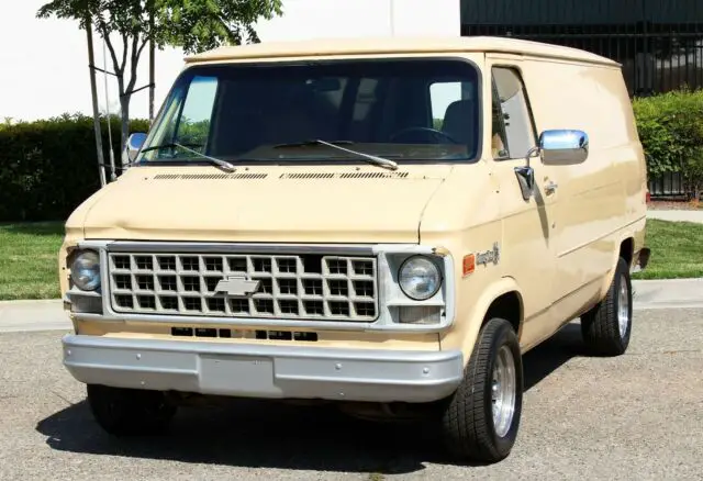
{"type": "Polygon", "coordinates": [[[635,279],[703,277],[703,224],[647,220],[649,265],[635,279]]]}

